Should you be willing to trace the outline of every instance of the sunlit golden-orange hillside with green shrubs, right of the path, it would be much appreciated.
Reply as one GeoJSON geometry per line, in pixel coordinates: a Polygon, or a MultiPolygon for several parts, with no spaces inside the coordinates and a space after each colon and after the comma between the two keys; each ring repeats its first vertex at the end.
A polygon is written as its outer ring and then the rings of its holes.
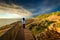
{"type": "Polygon", "coordinates": [[[27,25],[34,34],[36,40],[60,40],[60,12],[42,14],[36,17],[39,21],[34,21],[27,25]]]}

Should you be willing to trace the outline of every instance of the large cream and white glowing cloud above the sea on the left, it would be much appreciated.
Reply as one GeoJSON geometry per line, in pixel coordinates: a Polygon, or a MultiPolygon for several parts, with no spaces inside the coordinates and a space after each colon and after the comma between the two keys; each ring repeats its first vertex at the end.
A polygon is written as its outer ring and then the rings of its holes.
{"type": "Polygon", "coordinates": [[[32,16],[32,13],[21,6],[14,4],[7,5],[2,3],[0,5],[0,18],[27,18],[30,16],[32,16]]]}

